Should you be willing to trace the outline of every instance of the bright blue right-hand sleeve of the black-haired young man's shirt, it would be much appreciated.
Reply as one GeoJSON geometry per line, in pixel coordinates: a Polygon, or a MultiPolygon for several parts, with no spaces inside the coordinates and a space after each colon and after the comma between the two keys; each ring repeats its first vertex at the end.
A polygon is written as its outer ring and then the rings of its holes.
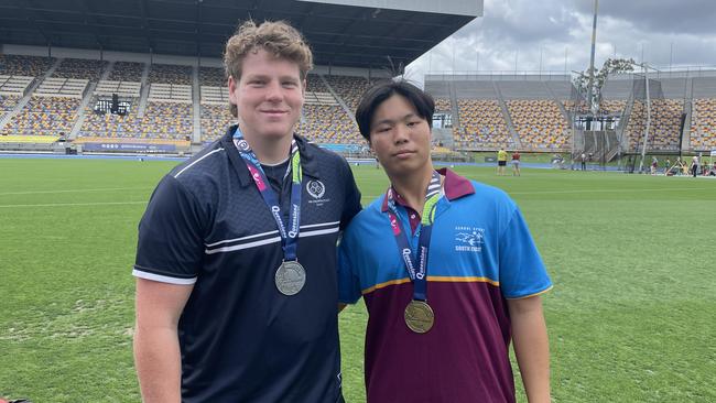
{"type": "Polygon", "coordinates": [[[500,288],[506,298],[523,298],[552,287],[540,252],[517,206],[500,237],[499,248],[500,288]]]}

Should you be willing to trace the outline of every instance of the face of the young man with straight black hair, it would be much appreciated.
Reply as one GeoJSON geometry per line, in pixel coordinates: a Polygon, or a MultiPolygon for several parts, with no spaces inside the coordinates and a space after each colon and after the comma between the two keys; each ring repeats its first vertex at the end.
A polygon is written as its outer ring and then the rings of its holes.
{"type": "Polygon", "coordinates": [[[392,95],[373,113],[370,149],[388,175],[432,172],[427,120],[404,97],[392,95]]]}

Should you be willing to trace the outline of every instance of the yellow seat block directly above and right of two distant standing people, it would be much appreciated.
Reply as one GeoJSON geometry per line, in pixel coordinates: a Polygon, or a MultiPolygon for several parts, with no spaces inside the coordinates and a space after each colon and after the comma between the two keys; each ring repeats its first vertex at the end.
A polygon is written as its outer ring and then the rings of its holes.
{"type": "Polygon", "coordinates": [[[552,150],[568,145],[569,123],[553,100],[514,99],[507,101],[507,108],[523,148],[552,150]]]}

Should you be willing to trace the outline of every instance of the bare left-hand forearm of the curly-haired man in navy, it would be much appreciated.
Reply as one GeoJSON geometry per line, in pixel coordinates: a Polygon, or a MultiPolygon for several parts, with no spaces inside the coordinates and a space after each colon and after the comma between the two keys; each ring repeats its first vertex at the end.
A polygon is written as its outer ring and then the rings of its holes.
{"type": "Polygon", "coordinates": [[[192,290],[137,279],[134,363],[144,403],[181,401],[177,324],[192,290]]]}

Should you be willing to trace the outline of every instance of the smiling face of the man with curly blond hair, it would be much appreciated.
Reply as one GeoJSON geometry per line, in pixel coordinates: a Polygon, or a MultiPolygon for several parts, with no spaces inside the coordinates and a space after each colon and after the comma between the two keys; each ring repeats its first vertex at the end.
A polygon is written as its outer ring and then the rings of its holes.
{"type": "Polygon", "coordinates": [[[305,83],[296,63],[265,52],[249,52],[241,77],[229,77],[229,99],[238,107],[247,139],[291,137],[301,118],[305,83]]]}

